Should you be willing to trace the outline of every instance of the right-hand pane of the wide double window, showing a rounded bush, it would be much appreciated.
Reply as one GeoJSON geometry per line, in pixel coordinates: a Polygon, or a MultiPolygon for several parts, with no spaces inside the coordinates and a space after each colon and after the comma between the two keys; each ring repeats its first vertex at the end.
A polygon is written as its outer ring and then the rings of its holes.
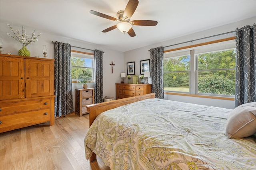
{"type": "Polygon", "coordinates": [[[198,54],[198,93],[235,95],[235,49],[198,54]]]}

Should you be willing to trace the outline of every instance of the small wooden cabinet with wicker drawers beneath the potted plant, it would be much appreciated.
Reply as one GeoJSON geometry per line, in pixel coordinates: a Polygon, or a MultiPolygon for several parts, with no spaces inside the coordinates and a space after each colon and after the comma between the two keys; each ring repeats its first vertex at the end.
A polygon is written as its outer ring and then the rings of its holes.
{"type": "Polygon", "coordinates": [[[83,114],[89,113],[86,105],[94,104],[94,88],[76,89],[76,114],[80,117],[83,114]]]}

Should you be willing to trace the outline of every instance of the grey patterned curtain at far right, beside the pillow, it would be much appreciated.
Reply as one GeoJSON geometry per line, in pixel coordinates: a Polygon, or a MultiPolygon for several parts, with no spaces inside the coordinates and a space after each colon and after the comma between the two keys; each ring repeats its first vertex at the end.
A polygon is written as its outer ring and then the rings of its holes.
{"type": "Polygon", "coordinates": [[[256,101],[256,25],[236,29],[235,107],[256,101]]]}

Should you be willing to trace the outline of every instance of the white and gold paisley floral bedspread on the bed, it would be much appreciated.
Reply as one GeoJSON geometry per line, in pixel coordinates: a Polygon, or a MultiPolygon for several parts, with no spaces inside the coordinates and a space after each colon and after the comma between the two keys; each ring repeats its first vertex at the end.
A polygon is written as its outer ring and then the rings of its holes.
{"type": "Polygon", "coordinates": [[[256,135],[228,139],[231,109],[147,99],[100,114],[85,137],[111,170],[255,170],[256,135]]]}

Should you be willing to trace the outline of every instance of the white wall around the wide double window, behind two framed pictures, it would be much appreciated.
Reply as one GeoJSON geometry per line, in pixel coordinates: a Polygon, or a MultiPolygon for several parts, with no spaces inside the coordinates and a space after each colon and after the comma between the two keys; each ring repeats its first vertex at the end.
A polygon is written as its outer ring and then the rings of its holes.
{"type": "MultiPolygon", "coordinates": [[[[139,49],[126,51],[124,53],[124,68],[126,69],[126,63],[127,62],[135,61],[135,74],[139,75],[140,74],[140,61],[150,59],[150,52],[148,50],[151,49],[151,48],[159,47],[159,46],[165,47],[165,46],[168,46],[168,45],[174,45],[174,44],[177,44],[177,43],[191,41],[191,40],[194,40],[194,39],[200,39],[200,38],[203,38],[203,37],[209,37],[209,36],[212,36],[212,35],[217,35],[217,34],[221,34],[221,33],[235,31],[237,27],[241,28],[245,25],[251,25],[252,26],[255,22],[256,22],[256,17],[250,18],[250,19],[247,19],[247,20],[242,20],[242,21],[235,22],[235,23],[231,23],[231,24],[228,24],[228,25],[216,27],[216,28],[213,28],[213,29],[200,31],[198,33],[192,33],[190,35],[184,35],[183,37],[174,37],[174,39],[164,41],[164,42],[160,42],[160,43],[153,44],[153,45],[149,45],[147,47],[142,47],[142,48],[139,48],[139,49]]],[[[203,39],[203,40],[199,40],[199,41],[193,41],[192,43],[190,42],[190,43],[186,43],[186,44],[182,44],[182,45],[166,47],[166,48],[164,48],[164,50],[175,49],[175,48],[178,48],[178,47],[184,47],[184,46],[188,46],[188,45],[199,44],[199,43],[204,43],[204,42],[208,42],[208,41],[214,41],[214,40],[218,40],[218,39],[234,37],[234,36],[235,36],[235,33],[229,33],[229,34],[225,34],[225,35],[221,35],[221,36],[217,36],[217,37],[212,37],[212,38],[203,39]]],[[[127,81],[128,80],[126,78],[126,82],[127,81]]],[[[149,83],[151,83],[151,78],[149,78],[149,83]]],[[[225,108],[230,108],[230,109],[234,108],[234,101],[230,101],[230,100],[196,98],[196,97],[177,96],[177,95],[168,95],[168,94],[164,95],[164,99],[175,100],[175,101],[180,101],[180,102],[188,102],[188,103],[194,103],[194,104],[202,104],[202,105],[208,105],[208,106],[225,107],[225,108]]]]}

